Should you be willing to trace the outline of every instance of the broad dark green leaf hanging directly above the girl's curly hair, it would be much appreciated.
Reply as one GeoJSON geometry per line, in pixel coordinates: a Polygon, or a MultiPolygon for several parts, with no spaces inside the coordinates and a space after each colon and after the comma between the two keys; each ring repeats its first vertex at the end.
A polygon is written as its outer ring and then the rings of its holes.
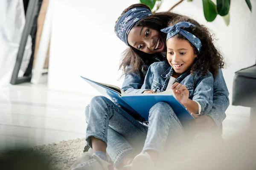
{"type": "Polygon", "coordinates": [[[208,22],[212,22],[218,15],[215,3],[213,3],[211,0],[203,0],[203,6],[205,19],[208,22]]]}

